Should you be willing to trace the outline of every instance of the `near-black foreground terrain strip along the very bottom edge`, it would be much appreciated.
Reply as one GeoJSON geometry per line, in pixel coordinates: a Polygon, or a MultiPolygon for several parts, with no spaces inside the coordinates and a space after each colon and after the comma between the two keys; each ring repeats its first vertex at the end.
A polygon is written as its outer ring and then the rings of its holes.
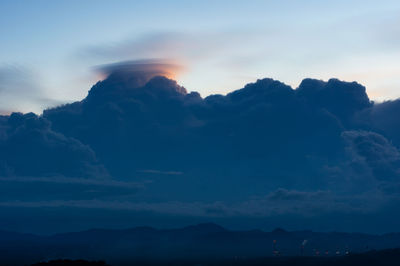
{"type": "MultiPolygon", "coordinates": [[[[257,259],[225,259],[225,260],[166,260],[166,261],[130,261],[119,262],[115,265],[399,265],[400,249],[390,249],[382,251],[370,251],[362,254],[349,254],[340,257],[268,257],[257,259]]],[[[33,266],[108,266],[103,261],[83,261],[83,260],[54,260],[33,264],[33,266]]]]}

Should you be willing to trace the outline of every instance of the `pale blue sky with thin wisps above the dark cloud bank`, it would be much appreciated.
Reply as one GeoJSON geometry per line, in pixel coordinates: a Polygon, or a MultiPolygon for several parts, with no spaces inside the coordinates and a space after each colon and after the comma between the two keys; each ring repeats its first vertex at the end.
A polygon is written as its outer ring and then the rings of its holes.
{"type": "Polygon", "coordinates": [[[1,1],[0,112],[83,98],[102,64],[169,59],[202,96],[257,78],[400,97],[398,1],[1,1]]]}

